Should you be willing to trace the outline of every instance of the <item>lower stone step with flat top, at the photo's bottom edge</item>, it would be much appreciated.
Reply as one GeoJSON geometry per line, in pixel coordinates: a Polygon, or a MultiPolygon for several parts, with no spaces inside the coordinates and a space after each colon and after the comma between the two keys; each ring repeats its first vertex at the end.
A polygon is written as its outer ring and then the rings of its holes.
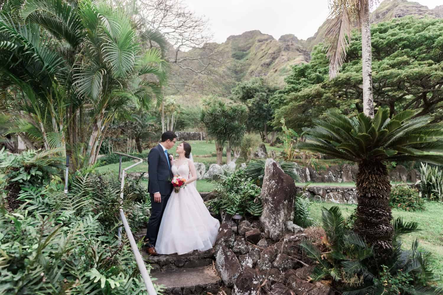
{"type": "Polygon", "coordinates": [[[179,268],[166,272],[151,272],[153,282],[163,285],[164,295],[217,294],[221,280],[213,266],[179,268]]]}

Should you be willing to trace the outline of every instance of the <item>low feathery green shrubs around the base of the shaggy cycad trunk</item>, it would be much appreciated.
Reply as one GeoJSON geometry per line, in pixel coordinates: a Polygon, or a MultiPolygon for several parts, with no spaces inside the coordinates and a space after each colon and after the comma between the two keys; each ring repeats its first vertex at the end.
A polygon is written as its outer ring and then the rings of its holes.
{"type": "Polygon", "coordinates": [[[338,206],[323,207],[322,223],[326,236],[318,241],[318,246],[310,241],[300,244],[307,256],[317,262],[311,280],[333,280],[343,295],[442,294],[435,287],[430,268],[435,259],[432,254],[418,251],[418,241],[411,250],[401,249],[401,236],[417,231],[416,222],[403,223],[397,218],[392,223],[394,248],[385,261],[374,259],[373,247],[346,228],[338,206]]]}

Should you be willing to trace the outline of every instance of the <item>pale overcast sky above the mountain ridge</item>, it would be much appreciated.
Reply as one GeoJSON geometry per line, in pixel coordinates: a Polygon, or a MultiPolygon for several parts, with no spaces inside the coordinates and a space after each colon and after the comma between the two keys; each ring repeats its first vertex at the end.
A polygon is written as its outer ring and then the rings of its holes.
{"type": "MultiPolygon", "coordinates": [[[[222,43],[230,35],[259,30],[278,39],[294,34],[307,39],[315,34],[329,14],[328,0],[184,0],[190,10],[205,15],[214,41],[222,43]]],[[[418,0],[428,8],[442,0],[418,0]]]]}

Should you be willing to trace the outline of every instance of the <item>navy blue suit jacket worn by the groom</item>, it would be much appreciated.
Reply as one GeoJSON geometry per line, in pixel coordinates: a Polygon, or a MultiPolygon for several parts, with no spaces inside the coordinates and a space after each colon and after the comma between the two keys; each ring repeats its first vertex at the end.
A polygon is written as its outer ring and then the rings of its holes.
{"type": "Polygon", "coordinates": [[[172,192],[172,172],[168,166],[167,157],[161,145],[151,149],[148,154],[148,191],[150,194],[160,192],[161,195],[170,195],[172,192]]]}

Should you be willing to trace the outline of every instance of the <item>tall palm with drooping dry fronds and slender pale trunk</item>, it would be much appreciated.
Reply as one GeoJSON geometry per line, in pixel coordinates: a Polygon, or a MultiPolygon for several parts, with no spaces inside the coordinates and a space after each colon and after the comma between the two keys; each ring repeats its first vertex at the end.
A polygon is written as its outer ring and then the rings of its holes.
{"type": "Polygon", "coordinates": [[[329,77],[337,76],[346,59],[353,25],[361,28],[361,59],[363,70],[363,112],[374,117],[372,91],[372,47],[369,8],[377,0],[330,0],[330,23],[326,29],[329,77]]]}

